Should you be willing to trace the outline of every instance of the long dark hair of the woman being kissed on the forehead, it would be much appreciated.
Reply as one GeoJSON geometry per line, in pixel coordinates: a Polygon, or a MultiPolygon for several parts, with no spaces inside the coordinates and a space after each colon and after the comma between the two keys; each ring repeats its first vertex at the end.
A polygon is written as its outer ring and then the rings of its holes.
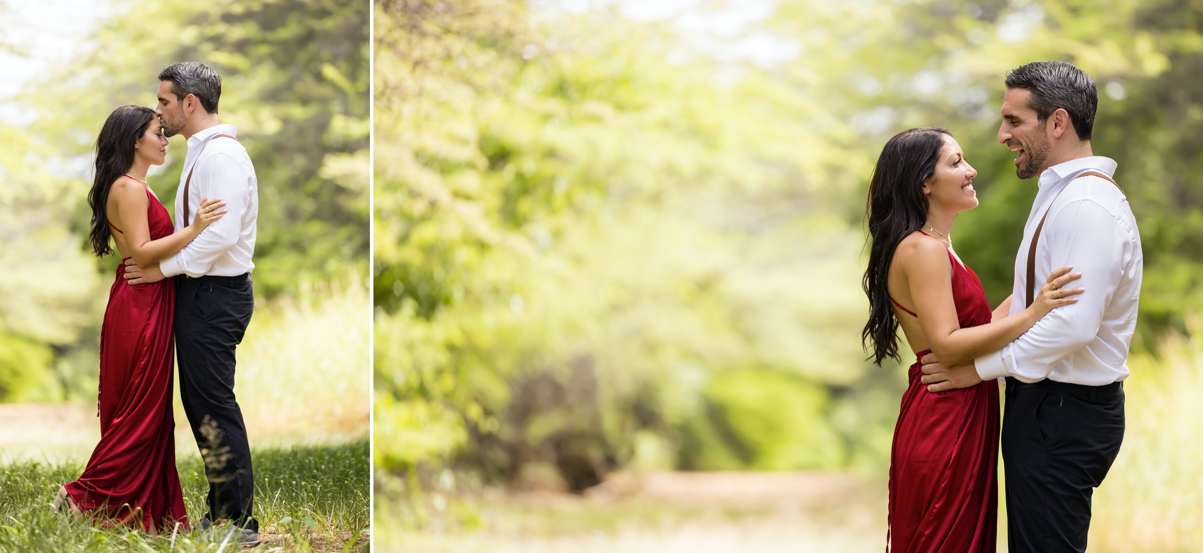
{"type": "Polygon", "coordinates": [[[108,245],[108,191],[113,183],[134,167],[134,143],[147,131],[155,118],[154,109],[143,106],[122,106],[113,109],[96,137],[96,176],[88,191],[91,207],[91,251],[97,257],[113,252],[108,245]]]}

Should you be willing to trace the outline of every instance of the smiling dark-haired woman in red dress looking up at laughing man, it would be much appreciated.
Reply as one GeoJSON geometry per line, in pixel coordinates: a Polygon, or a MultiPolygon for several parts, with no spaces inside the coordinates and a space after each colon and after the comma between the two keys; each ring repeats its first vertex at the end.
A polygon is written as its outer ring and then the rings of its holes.
{"type": "Polygon", "coordinates": [[[872,343],[877,364],[899,359],[899,326],[917,352],[890,452],[888,540],[895,553],[995,551],[998,385],[929,392],[918,359],[934,352],[946,365],[968,363],[1084,291],[1061,289],[1081,276],[1062,267],[1027,309],[1007,316],[1007,298],[991,314],[949,238],[956,214],[978,204],[976,176],[950,132],[911,129],[885,143],[869,186],[870,317],[861,337],[872,343]]]}

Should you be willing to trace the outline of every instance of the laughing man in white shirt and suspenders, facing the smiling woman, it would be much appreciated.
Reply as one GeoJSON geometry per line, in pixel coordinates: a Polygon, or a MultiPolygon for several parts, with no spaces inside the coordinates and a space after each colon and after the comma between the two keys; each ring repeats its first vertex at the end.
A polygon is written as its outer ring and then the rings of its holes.
{"type": "Polygon", "coordinates": [[[1006,83],[998,143],[1019,153],[1019,178],[1039,176],[1039,192],[1015,257],[1014,293],[995,316],[1021,311],[1032,275],[1056,267],[1072,264],[1081,273],[1074,286],[1086,291],[970,365],[924,357],[923,382],[941,392],[1006,377],[1011,552],[1084,552],[1094,488],[1124,439],[1121,382],[1140,292],[1140,236],[1112,180],[1115,161],[1090,147],[1094,79],[1071,64],[1039,61],[1011,71],[1006,83]]]}

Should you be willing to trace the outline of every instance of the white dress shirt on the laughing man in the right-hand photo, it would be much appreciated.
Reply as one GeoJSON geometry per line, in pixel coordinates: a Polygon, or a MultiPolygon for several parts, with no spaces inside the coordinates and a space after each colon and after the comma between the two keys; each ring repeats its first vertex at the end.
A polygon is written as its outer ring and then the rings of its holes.
{"type": "Polygon", "coordinates": [[[1115,161],[1081,157],[1041,174],[1039,192],[1015,256],[1011,314],[1025,308],[1027,251],[1050,203],[1036,246],[1035,290],[1039,291],[1054,268],[1072,264],[1081,278],[1066,286],[1086,291],[1074,296],[1078,303],[1054,309],[1011,344],[978,357],[977,371],[983,380],[1014,376],[1023,382],[1050,379],[1102,386],[1128,375],[1125,361],[1136,329],[1144,267],[1140,234],[1127,198],[1114,184],[1100,177],[1074,179],[1086,171],[1113,176],[1115,161]]]}

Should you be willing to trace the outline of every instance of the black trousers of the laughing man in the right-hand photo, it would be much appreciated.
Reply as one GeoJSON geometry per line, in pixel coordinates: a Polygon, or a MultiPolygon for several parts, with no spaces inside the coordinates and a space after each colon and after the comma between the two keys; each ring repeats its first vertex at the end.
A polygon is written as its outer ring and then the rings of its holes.
{"type": "Polygon", "coordinates": [[[1124,386],[1007,379],[1002,462],[1011,553],[1086,551],[1090,499],[1124,441],[1124,386]]]}

